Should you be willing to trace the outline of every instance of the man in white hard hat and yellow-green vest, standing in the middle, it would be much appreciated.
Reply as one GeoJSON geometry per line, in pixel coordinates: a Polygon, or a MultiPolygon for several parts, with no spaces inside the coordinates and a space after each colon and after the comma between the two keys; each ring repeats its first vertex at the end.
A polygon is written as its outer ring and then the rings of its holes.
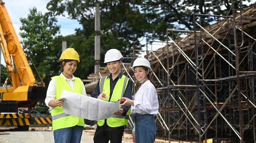
{"type": "MultiPolygon", "coordinates": [[[[117,49],[110,49],[106,52],[104,63],[107,63],[111,74],[99,80],[92,97],[108,102],[116,102],[123,97],[132,99],[133,83],[130,78],[121,73],[123,59],[124,57],[117,49]]],[[[120,106],[119,110],[113,114],[113,117],[97,121],[94,143],[122,142],[124,127],[128,123],[130,106],[120,106]]]]}

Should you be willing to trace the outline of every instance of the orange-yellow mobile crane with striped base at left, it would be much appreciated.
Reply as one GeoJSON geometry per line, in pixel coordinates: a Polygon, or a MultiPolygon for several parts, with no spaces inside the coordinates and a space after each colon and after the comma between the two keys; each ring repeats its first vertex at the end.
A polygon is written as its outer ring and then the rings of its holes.
{"type": "Polygon", "coordinates": [[[0,126],[17,126],[18,130],[29,130],[32,120],[30,111],[39,101],[45,100],[47,89],[44,82],[36,81],[2,0],[0,47],[11,77],[0,88],[0,126]]]}

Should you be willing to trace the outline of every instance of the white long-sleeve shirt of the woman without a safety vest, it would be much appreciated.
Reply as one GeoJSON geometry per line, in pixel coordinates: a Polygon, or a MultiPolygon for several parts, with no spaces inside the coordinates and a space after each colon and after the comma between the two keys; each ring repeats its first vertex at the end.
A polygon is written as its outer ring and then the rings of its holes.
{"type": "Polygon", "coordinates": [[[134,95],[130,113],[157,115],[159,103],[154,85],[147,80],[134,95]]]}

